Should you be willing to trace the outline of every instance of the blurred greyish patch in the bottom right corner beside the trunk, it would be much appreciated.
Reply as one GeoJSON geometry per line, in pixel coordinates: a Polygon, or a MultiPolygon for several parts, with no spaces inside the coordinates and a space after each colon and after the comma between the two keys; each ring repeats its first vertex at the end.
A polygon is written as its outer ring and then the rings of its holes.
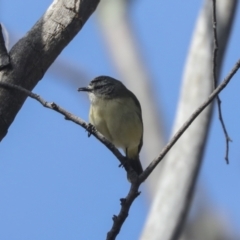
{"type": "MultiPolygon", "coordinates": [[[[200,184],[201,185],[201,184],[200,184]]],[[[192,209],[180,240],[237,240],[240,239],[226,209],[219,208],[209,199],[205,187],[194,195],[192,209]]]]}

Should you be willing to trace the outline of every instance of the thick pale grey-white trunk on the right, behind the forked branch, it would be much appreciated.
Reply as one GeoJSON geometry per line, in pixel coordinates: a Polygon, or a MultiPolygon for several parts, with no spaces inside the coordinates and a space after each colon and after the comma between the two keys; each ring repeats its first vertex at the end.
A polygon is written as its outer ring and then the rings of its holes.
{"type": "MultiPolygon", "coordinates": [[[[217,77],[230,35],[237,1],[218,1],[217,77]]],[[[206,0],[199,15],[185,67],[173,134],[212,92],[212,8],[206,0]]],[[[212,106],[206,108],[174,145],[163,162],[141,239],[178,239],[185,222],[201,166],[212,106]]]]}

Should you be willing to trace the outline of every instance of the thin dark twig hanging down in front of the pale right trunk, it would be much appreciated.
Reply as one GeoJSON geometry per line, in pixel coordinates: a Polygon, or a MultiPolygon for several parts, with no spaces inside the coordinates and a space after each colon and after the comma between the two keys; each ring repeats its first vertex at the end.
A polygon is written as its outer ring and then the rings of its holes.
{"type": "MultiPolygon", "coordinates": [[[[213,87],[214,89],[217,87],[217,53],[218,53],[218,37],[217,37],[217,17],[216,17],[216,0],[212,0],[212,9],[213,9],[213,17],[212,17],[212,23],[213,23],[213,87]]],[[[223,116],[222,116],[222,108],[221,108],[221,99],[219,95],[217,96],[217,108],[218,108],[218,118],[222,125],[222,129],[225,135],[226,140],[226,153],[225,153],[225,160],[227,164],[229,163],[229,142],[231,142],[231,138],[228,135],[223,116]]]]}

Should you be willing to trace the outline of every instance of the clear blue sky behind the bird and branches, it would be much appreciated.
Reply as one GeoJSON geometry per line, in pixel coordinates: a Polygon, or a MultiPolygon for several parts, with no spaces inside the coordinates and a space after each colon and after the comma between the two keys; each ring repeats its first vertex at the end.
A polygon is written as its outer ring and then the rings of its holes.
{"type": "MultiPolygon", "coordinates": [[[[24,35],[52,1],[0,3],[0,22],[24,35]]],[[[147,67],[151,71],[169,135],[183,68],[202,1],[133,3],[130,15],[147,67]],[[147,21],[146,21],[147,19],[147,21]],[[169,92],[171,91],[171,94],[169,92]]],[[[238,60],[240,17],[223,64],[222,78],[238,60]]],[[[89,81],[98,75],[118,77],[107,55],[93,15],[59,56],[79,67],[89,81]]],[[[216,111],[197,189],[220,210],[235,231],[240,229],[239,73],[221,94],[229,135],[230,164],[224,161],[225,139],[216,111]]],[[[80,80],[79,80],[80,82],[80,80]]],[[[80,83],[79,83],[80,85],[80,83]]],[[[86,97],[47,72],[34,89],[81,118],[88,119],[86,97]]],[[[145,130],[146,130],[145,126],[145,130]]],[[[125,172],[94,137],[59,114],[28,99],[0,144],[0,239],[104,239],[129,189],[125,172]]],[[[148,202],[143,194],[133,204],[118,239],[137,239],[148,202]]]]}

